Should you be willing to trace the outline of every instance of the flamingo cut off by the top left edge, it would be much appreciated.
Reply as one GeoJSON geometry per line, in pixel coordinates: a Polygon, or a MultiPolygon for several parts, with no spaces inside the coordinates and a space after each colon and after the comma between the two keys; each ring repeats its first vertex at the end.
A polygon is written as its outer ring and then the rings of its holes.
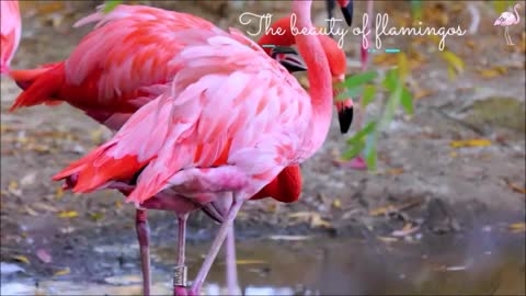
{"type": "Polygon", "coordinates": [[[20,43],[19,1],[0,1],[0,75],[9,72],[11,59],[20,43]]]}

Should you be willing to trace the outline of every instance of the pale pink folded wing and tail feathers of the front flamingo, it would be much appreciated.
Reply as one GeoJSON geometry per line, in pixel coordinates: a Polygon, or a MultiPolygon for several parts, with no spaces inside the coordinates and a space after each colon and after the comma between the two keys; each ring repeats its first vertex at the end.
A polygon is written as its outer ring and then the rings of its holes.
{"type": "Polygon", "coordinates": [[[171,61],[181,69],[171,89],[56,180],[78,174],[75,190],[88,192],[140,171],[128,201],[142,203],[184,184],[195,169],[229,167],[231,175],[255,180],[252,195],[301,160],[312,111],[297,80],[239,34],[176,35],[193,44],[171,61]]]}

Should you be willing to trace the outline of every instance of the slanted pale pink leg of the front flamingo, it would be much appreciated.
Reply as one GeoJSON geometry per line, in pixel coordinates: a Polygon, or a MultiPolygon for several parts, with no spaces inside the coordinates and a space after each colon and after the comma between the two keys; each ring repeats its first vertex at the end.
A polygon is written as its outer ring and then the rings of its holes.
{"type": "Polygon", "coordinates": [[[208,251],[208,254],[206,255],[203,265],[201,265],[201,270],[197,273],[194,283],[192,284],[191,295],[199,295],[203,283],[205,282],[205,278],[210,271],[211,264],[214,263],[214,260],[216,259],[217,253],[219,252],[219,249],[221,248],[221,244],[225,241],[227,234],[229,232],[230,225],[236,218],[236,215],[238,214],[242,204],[243,202],[235,201],[232,206],[230,207],[230,210],[228,212],[225,221],[221,224],[221,227],[219,228],[219,231],[214,239],[214,242],[211,243],[210,250],[208,251]]]}

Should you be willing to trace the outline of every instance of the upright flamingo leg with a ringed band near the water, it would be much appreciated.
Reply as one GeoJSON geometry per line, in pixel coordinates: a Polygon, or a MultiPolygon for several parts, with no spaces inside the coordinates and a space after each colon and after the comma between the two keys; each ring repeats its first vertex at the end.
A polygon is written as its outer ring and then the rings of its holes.
{"type": "Polygon", "coordinates": [[[178,265],[173,274],[173,295],[186,295],[186,271],[185,242],[186,242],[186,220],[188,214],[178,215],[179,237],[178,237],[178,265]]]}

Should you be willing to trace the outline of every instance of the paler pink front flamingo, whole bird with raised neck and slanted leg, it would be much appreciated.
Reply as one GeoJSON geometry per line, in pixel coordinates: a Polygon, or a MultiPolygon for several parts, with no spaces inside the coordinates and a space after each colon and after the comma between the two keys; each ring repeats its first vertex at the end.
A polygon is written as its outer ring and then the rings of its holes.
{"type": "MultiPolygon", "coordinates": [[[[310,4],[294,2],[298,26],[308,30],[313,29],[310,4]]],[[[332,113],[331,80],[315,36],[296,36],[309,67],[309,96],[279,64],[236,31],[197,29],[175,35],[191,42],[171,61],[181,69],[171,88],[132,115],[113,139],[55,179],[75,175],[76,192],[136,179],[127,201],[147,208],[187,212],[196,205],[230,203],[193,283],[191,293],[198,294],[243,202],[323,144],[332,113]]]]}

